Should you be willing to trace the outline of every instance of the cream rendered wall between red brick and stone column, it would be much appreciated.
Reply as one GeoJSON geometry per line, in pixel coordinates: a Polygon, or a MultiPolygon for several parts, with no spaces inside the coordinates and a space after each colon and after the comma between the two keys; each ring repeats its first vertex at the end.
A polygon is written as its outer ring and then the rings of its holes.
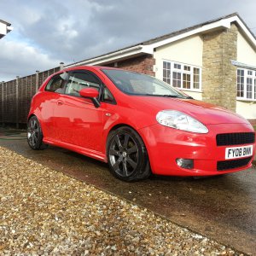
{"type": "MultiPolygon", "coordinates": [[[[203,41],[200,36],[184,38],[171,44],[160,46],[154,51],[154,71],[157,79],[163,79],[163,61],[177,61],[202,67],[203,41]]],[[[201,92],[184,90],[186,94],[201,100],[201,92]]]]}

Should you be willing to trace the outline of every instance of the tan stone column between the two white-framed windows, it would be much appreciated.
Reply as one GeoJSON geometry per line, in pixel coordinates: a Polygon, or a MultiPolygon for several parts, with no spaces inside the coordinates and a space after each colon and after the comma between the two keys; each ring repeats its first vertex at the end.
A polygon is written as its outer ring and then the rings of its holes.
{"type": "Polygon", "coordinates": [[[203,36],[202,99],[236,112],[237,27],[203,36]]]}

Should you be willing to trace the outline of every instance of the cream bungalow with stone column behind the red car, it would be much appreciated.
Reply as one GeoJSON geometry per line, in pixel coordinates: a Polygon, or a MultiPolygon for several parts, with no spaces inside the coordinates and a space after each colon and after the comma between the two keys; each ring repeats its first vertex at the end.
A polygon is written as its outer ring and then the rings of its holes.
{"type": "Polygon", "coordinates": [[[235,13],[66,67],[147,73],[256,124],[256,38],[235,13]]]}

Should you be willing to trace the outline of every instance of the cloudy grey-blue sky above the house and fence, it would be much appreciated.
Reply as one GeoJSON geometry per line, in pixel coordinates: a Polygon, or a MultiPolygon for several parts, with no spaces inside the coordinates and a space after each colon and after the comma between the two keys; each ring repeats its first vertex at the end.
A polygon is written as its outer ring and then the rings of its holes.
{"type": "Polygon", "coordinates": [[[0,81],[24,77],[237,12],[256,34],[255,0],[0,0],[0,81]]]}

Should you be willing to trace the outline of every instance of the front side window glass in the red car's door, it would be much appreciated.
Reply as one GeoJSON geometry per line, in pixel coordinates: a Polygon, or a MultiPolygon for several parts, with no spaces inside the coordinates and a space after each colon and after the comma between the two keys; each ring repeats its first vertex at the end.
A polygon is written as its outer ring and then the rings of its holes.
{"type": "Polygon", "coordinates": [[[65,94],[71,96],[80,96],[79,90],[87,87],[100,90],[102,82],[97,79],[92,73],[74,72],[69,76],[67,86],[65,88],[65,94]]]}

